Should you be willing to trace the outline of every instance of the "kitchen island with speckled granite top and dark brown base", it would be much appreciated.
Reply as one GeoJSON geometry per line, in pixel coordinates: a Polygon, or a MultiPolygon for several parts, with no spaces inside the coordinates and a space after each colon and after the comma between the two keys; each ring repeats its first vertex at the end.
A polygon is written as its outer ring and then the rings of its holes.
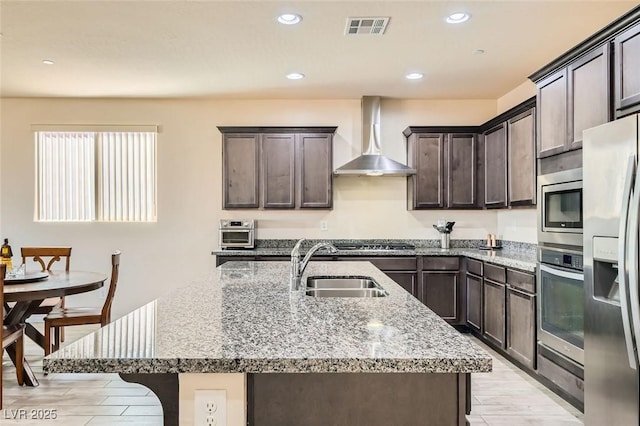
{"type": "Polygon", "coordinates": [[[367,276],[388,296],[291,292],[289,268],[228,262],[51,354],[44,370],[142,383],[165,424],[192,422],[196,389],[227,390],[228,425],[465,424],[469,374],[491,371],[485,351],[369,262],[312,262],[303,283],[367,276]]]}

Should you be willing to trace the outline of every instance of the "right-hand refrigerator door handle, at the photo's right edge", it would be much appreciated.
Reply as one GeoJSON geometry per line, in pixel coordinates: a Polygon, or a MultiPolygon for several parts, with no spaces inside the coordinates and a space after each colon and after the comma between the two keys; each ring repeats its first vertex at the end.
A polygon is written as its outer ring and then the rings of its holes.
{"type": "Polygon", "coordinates": [[[640,216],[640,179],[637,175],[633,188],[631,207],[629,210],[627,262],[629,267],[629,305],[631,306],[631,329],[636,342],[635,359],[639,365],[637,345],[640,343],[640,295],[638,294],[638,217],[640,216]]]}

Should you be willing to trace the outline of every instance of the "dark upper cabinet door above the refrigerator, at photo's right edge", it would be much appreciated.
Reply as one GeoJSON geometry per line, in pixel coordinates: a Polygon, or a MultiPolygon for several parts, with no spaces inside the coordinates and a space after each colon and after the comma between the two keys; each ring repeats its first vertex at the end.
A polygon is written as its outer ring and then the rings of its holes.
{"type": "MultiPolygon", "coordinates": [[[[614,40],[616,115],[640,104],[640,25],[623,32],[614,40]]],[[[638,108],[633,108],[637,111],[638,108]]]]}

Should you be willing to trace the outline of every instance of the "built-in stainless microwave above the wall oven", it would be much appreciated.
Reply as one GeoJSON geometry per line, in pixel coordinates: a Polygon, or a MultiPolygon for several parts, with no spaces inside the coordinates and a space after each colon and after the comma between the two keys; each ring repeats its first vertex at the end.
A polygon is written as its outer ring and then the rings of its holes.
{"type": "Polygon", "coordinates": [[[582,247],[582,169],[538,176],[538,242],[582,247]]]}

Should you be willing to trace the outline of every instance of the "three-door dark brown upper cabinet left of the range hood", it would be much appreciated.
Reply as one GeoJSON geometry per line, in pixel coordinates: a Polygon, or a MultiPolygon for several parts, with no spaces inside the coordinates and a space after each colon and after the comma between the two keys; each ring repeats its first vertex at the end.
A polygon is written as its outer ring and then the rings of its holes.
{"type": "Polygon", "coordinates": [[[218,127],[223,209],[330,209],[335,127],[218,127]]]}

